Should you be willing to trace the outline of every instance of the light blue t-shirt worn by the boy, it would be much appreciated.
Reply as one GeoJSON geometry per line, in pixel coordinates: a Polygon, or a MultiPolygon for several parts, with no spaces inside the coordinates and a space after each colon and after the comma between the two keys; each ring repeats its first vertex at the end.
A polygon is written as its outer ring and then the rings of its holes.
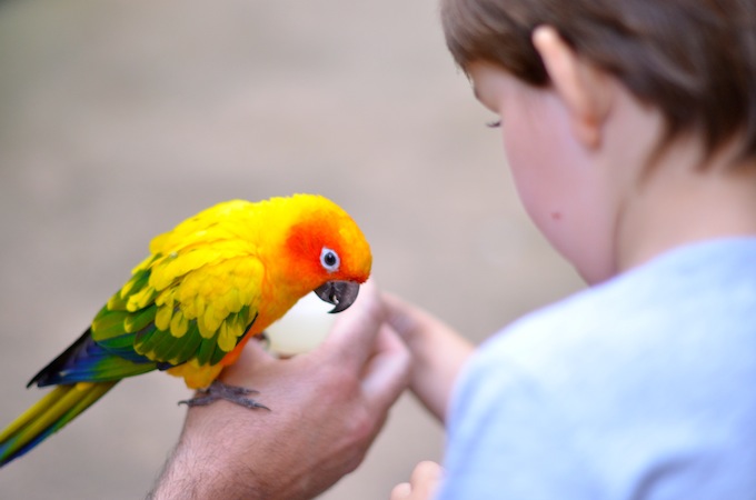
{"type": "Polygon", "coordinates": [[[438,499],[756,499],[756,239],[673,250],[486,342],[438,499]]]}

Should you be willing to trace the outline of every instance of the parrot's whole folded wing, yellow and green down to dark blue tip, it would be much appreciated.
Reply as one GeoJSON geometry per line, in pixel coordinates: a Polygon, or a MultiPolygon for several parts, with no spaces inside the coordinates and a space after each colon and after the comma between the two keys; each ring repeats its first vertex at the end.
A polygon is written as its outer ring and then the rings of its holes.
{"type": "Polygon", "coordinates": [[[189,360],[218,363],[255,322],[260,301],[265,268],[237,227],[246,209],[246,202],[220,203],[157,237],[158,251],[29,383],[101,382],[189,360]],[[219,219],[218,210],[237,217],[219,219]]]}

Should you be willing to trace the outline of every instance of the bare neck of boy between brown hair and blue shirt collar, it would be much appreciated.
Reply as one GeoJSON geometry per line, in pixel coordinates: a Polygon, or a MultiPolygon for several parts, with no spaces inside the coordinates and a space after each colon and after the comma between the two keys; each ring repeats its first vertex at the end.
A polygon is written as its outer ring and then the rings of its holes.
{"type": "Polygon", "coordinates": [[[727,148],[702,164],[689,146],[670,144],[628,196],[615,238],[620,272],[687,243],[756,236],[756,161],[736,162],[727,148]]]}

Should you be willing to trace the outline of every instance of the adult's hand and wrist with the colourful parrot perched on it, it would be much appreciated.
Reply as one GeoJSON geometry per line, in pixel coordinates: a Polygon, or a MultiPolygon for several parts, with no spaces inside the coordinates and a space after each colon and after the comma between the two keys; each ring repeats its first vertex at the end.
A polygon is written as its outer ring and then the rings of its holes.
{"type": "Polygon", "coordinates": [[[270,410],[189,409],[150,498],[308,499],[355,470],[409,381],[409,353],[385,314],[368,282],[312,352],[275,359],[250,342],[221,380],[259,391],[270,410]]]}

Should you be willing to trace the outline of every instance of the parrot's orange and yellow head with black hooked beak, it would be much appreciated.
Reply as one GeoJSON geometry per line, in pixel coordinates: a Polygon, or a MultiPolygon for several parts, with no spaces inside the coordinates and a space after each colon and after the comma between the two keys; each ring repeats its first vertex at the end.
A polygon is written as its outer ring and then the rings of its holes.
{"type": "Polygon", "coordinates": [[[296,194],[284,240],[288,280],[314,291],[340,312],[357,299],[370,276],[372,254],[365,234],[349,214],[327,198],[296,194]]]}

